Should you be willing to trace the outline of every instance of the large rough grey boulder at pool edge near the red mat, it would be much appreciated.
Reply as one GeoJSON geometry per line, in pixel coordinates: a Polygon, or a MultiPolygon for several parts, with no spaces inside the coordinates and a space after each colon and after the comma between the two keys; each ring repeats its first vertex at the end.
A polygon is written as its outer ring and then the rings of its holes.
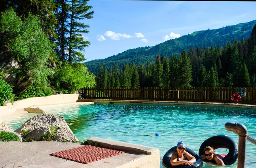
{"type": "Polygon", "coordinates": [[[52,114],[34,116],[15,132],[26,140],[78,141],[63,117],[52,114]]]}

